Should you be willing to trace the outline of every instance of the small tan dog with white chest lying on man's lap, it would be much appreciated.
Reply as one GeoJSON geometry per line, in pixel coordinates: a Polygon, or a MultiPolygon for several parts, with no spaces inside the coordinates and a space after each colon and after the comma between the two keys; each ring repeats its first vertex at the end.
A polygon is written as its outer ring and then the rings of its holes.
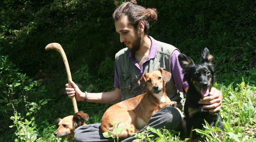
{"type": "Polygon", "coordinates": [[[144,128],[154,113],[166,106],[175,107],[177,102],[171,101],[165,93],[165,82],[168,82],[170,78],[171,73],[163,69],[143,74],[138,84],[142,89],[147,89],[147,92],[109,107],[102,116],[101,132],[113,134],[114,126],[110,120],[114,123],[121,122],[118,128],[125,126],[132,128],[132,130],[125,129],[120,135],[118,134],[119,138],[127,138],[144,128]]]}

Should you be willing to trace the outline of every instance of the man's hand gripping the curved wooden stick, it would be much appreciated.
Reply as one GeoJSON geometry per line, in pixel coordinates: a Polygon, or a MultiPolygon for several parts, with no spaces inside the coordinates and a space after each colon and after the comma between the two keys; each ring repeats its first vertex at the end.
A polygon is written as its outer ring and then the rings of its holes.
{"type": "Polygon", "coordinates": [[[73,82],[71,79],[69,79],[69,82],[71,83],[71,85],[66,84],[66,91],[68,94],[68,97],[71,98],[73,96],[75,96],[76,101],[84,101],[84,97],[85,97],[85,93],[82,92],[78,86],[75,84],[75,82],[73,82]]]}

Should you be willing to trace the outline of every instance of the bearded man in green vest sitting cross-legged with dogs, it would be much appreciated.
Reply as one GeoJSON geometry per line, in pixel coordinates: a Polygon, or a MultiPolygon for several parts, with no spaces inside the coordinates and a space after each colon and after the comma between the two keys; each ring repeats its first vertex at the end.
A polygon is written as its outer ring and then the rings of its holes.
{"type": "MultiPolygon", "coordinates": [[[[149,25],[157,19],[156,10],[145,9],[127,2],[116,9],[113,18],[116,32],[120,35],[120,42],[127,47],[116,53],[114,85],[116,89],[111,92],[84,93],[70,80],[72,86],[66,84],[68,97],[75,96],[77,101],[87,102],[120,102],[144,92],[137,84],[143,73],[163,68],[172,73],[171,80],[166,84],[166,94],[172,101],[177,101],[179,108],[182,109],[183,94],[181,92],[187,92],[188,84],[183,82],[182,69],[178,61],[180,52],[172,45],[148,36],[149,25]]],[[[207,104],[203,107],[209,108],[210,112],[216,112],[222,106],[222,94],[216,88],[212,88],[210,94],[199,103],[207,104]]],[[[166,129],[178,130],[180,123],[181,116],[178,110],[165,107],[151,117],[147,126],[156,129],[165,126],[166,129]]],[[[141,131],[146,130],[146,127],[141,131]]],[[[99,128],[100,123],[81,126],[76,129],[74,140],[112,141],[104,138],[99,128]]],[[[124,141],[132,141],[132,139],[134,136],[124,141]]]]}

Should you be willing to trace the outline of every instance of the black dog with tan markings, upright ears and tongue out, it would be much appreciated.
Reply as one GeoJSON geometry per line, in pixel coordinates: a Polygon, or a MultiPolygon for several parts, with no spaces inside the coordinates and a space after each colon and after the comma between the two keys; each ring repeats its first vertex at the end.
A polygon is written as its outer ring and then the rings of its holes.
{"type": "MultiPolygon", "coordinates": [[[[184,81],[188,81],[189,86],[184,113],[186,116],[187,136],[192,140],[197,138],[196,132],[192,130],[202,129],[202,124],[205,124],[204,119],[212,127],[215,126],[219,118],[219,112],[210,113],[207,109],[203,108],[202,104],[197,103],[200,98],[209,95],[209,90],[215,82],[214,57],[205,48],[199,64],[194,64],[193,60],[184,54],[180,54],[178,58],[183,69],[184,81]]],[[[223,131],[221,118],[219,119],[218,127],[223,131]]]]}

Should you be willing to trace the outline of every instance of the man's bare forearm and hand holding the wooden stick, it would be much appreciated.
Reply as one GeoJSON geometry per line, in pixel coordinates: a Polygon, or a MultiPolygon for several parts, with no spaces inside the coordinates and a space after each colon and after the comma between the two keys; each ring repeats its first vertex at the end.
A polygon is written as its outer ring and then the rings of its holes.
{"type": "MultiPolygon", "coordinates": [[[[75,96],[76,101],[84,101],[85,93],[82,92],[72,80],[69,80],[71,85],[66,84],[68,97],[75,96]]],[[[116,103],[121,101],[121,91],[116,88],[114,91],[102,93],[87,93],[87,102],[98,103],[116,103]]]]}

